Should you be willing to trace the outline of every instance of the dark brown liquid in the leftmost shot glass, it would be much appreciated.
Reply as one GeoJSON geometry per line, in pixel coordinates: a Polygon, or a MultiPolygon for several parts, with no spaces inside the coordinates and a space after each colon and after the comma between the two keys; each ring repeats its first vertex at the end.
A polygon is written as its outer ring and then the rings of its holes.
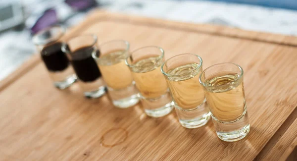
{"type": "Polygon", "coordinates": [[[69,65],[66,54],[61,51],[61,46],[61,43],[55,43],[41,51],[41,58],[49,71],[62,71],[69,65]]]}

